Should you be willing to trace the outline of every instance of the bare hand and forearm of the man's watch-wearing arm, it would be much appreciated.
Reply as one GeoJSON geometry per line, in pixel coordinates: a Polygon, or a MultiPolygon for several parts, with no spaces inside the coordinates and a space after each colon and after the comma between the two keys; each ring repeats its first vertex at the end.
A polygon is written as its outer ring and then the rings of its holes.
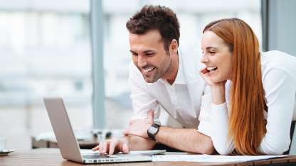
{"type": "MultiPolygon", "coordinates": [[[[153,111],[149,111],[146,119],[131,121],[125,133],[148,138],[147,129],[154,123],[153,116],[153,111]]],[[[194,128],[170,128],[161,126],[159,127],[157,135],[155,135],[155,139],[159,143],[186,152],[202,154],[213,153],[211,138],[207,135],[203,135],[194,128]]]]}

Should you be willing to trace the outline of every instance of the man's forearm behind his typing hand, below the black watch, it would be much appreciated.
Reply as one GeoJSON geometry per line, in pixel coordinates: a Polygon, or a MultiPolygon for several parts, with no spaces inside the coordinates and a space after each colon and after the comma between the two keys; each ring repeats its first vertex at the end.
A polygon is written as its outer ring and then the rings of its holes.
{"type": "Polygon", "coordinates": [[[155,141],[137,135],[127,135],[123,139],[128,141],[129,150],[152,150],[155,141]]]}

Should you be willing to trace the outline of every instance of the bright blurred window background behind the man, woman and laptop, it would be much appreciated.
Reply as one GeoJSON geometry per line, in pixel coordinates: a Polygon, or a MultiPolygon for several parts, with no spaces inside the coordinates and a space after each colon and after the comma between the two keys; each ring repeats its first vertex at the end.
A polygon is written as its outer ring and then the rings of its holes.
{"type": "MultiPolygon", "coordinates": [[[[32,135],[52,131],[44,96],[63,96],[75,130],[124,129],[128,125],[132,116],[127,81],[131,55],[125,23],[146,4],[164,5],[176,12],[181,52],[200,55],[204,26],[230,17],[241,18],[253,28],[262,50],[277,47],[277,43],[268,43],[268,34],[277,33],[268,29],[273,22],[268,22],[266,9],[272,3],[267,1],[97,1],[102,13],[102,84],[93,82],[98,71],[93,67],[92,47],[97,43],[92,43],[91,1],[0,0],[0,137],[8,138],[8,148],[31,148],[32,135]],[[99,94],[102,99],[93,98],[96,86],[105,91],[99,94]],[[96,99],[102,100],[98,111],[102,116],[93,114],[96,99]],[[94,125],[94,121],[102,121],[103,126],[94,125]]],[[[272,39],[280,40],[276,36],[272,39]]]]}

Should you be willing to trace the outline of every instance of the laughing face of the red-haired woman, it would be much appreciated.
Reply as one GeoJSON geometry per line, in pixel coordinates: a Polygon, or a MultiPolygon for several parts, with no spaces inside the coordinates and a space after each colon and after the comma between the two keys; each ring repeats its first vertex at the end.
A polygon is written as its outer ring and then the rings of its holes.
{"type": "Polygon", "coordinates": [[[216,33],[206,31],[201,38],[203,57],[201,62],[206,65],[206,70],[214,83],[231,79],[231,58],[228,45],[216,33]]]}

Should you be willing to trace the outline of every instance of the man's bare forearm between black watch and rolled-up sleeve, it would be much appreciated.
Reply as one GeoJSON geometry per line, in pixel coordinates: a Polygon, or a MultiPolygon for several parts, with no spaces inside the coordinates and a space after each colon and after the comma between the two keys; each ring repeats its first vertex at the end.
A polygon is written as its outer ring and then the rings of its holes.
{"type": "Polygon", "coordinates": [[[199,133],[196,129],[169,128],[161,126],[155,136],[157,142],[171,148],[191,153],[213,153],[211,138],[199,133]]]}

